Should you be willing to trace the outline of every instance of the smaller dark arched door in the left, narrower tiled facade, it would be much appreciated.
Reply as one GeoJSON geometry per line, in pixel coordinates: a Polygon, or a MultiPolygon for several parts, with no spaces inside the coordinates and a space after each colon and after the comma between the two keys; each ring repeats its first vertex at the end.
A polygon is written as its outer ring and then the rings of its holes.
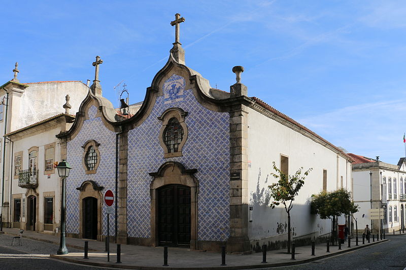
{"type": "Polygon", "coordinates": [[[97,239],[97,199],[87,197],[83,199],[83,237],[97,239]]]}

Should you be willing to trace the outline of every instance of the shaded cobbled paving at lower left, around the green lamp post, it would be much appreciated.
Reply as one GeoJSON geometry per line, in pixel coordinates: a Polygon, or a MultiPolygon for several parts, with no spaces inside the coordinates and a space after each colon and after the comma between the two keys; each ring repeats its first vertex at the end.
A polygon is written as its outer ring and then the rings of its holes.
{"type": "MultiPolygon", "coordinates": [[[[10,246],[12,236],[0,235],[0,269],[21,270],[21,269],[57,269],[73,270],[88,269],[101,270],[106,268],[86,267],[78,264],[65,263],[49,258],[49,254],[58,250],[58,245],[39,242],[35,240],[22,239],[22,246],[10,246]]],[[[70,248],[69,251],[79,251],[70,248]]]]}

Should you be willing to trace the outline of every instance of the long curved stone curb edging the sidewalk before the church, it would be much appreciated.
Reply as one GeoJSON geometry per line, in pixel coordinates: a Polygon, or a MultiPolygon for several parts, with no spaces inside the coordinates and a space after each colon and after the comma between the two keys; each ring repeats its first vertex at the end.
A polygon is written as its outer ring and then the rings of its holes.
{"type": "MultiPolygon", "coordinates": [[[[213,266],[213,267],[137,266],[137,265],[117,264],[117,263],[114,263],[114,262],[112,262],[112,263],[91,262],[91,261],[87,261],[87,260],[84,260],[84,259],[67,258],[67,257],[64,257],[64,255],[51,254],[51,255],[49,255],[49,257],[53,258],[53,259],[64,260],[64,261],[74,262],[74,263],[78,263],[78,264],[91,265],[91,266],[100,266],[100,267],[113,267],[113,268],[121,268],[121,269],[142,269],[142,270],[164,270],[164,269],[172,269],[172,270],[176,270],[176,269],[221,270],[222,269],[222,270],[224,270],[225,269],[225,270],[233,270],[233,269],[253,269],[253,268],[268,268],[268,267],[298,265],[298,264],[308,263],[308,262],[315,261],[315,260],[324,259],[324,258],[327,258],[327,257],[340,255],[340,254],[347,253],[347,252],[357,250],[357,249],[360,249],[360,248],[365,248],[365,247],[385,243],[387,241],[389,241],[389,239],[384,239],[384,240],[380,240],[379,242],[369,243],[368,245],[362,245],[361,244],[360,246],[353,247],[351,249],[342,250],[342,251],[339,251],[339,252],[325,254],[325,255],[322,255],[322,256],[308,258],[308,259],[304,259],[304,260],[297,260],[297,261],[290,261],[290,262],[280,262],[280,263],[261,263],[261,264],[252,264],[252,265],[236,265],[236,266],[213,266]]],[[[91,254],[89,254],[89,256],[90,255],[91,254]]]]}

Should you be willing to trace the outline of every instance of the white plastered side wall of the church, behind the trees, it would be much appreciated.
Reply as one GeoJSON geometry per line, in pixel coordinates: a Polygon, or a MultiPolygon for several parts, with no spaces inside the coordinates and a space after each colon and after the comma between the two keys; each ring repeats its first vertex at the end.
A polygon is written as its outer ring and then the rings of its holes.
{"type": "MultiPolygon", "coordinates": [[[[336,152],[251,108],[248,126],[248,195],[249,206],[253,207],[253,221],[248,225],[250,240],[287,238],[284,208],[271,209],[267,206],[269,199],[272,200],[267,196],[268,185],[276,182],[270,176],[274,172],[272,162],[275,161],[279,168],[280,155],[289,158],[289,174],[294,174],[300,167],[304,170],[313,168],[291,210],[293,238],[330,233],[329,219],[322,220],[310,214],[310,199],[312,194],[322,191],[323,169],[327,170],[328,191],[341,187],[341,176],[344,187],[351,191],[351,164],[342,156],[337,156],[336,152]]],[[[339,220],[339,224],[344,223],[344,218],[339,220]]]]}

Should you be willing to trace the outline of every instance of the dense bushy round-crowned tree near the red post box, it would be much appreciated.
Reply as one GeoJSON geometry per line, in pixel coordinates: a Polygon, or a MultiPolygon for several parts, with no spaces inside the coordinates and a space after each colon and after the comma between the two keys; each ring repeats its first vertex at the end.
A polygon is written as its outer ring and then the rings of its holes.
{"type": "Polygon", "coordinates": [[[319,214],[321,219],[331,219],[331,242],[335,241],[336,218],[339,216],[353,215],[358,212],[358,205],[351,199],[351,192],[340,188],[335,191],[322,191],[318,195],[312,195],[311,213],[319,214]]]}

